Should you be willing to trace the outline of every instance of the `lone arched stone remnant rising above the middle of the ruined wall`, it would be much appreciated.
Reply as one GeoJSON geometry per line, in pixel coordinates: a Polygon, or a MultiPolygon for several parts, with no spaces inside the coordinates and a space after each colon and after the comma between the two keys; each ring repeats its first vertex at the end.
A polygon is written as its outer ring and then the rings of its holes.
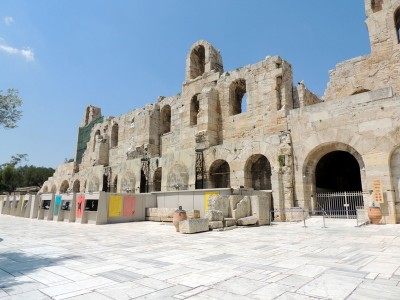
{"type": "Polygon", "coordinates": [[[219,73],[224,71],[221,54],[208,42],[197,41],[190,48],[186,58],[186,81],[212,71],[219,73]]]}

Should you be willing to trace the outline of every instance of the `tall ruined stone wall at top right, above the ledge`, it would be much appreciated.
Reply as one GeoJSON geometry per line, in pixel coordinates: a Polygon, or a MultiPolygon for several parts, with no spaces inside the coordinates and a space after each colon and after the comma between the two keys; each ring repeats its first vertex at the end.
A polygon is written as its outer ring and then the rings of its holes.
{"type": "Polygon", "coordinates": [[[365,0],[371,53],[330,71],[325,100],[392,88],[400,94],[400,0],[365,0]]]}

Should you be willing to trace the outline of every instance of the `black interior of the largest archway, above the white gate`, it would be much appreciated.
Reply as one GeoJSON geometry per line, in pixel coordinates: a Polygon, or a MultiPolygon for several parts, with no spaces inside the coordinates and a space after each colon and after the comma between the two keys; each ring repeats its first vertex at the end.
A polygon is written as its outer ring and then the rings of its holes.
{"type": "Polygon", "coordinates": [[[315,169],[317,191],[361,191],[360,166],[348,152],[333,151],[324,155],[315,169]]]}

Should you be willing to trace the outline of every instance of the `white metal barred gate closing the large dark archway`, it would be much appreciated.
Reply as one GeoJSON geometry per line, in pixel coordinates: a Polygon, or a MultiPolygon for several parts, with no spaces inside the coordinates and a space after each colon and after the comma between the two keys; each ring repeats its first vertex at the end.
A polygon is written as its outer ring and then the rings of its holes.
{"type": "Polygon", "coordinates": [[[325,217],[356,219],[360,209],[364,209],[362,192],[317,193],[317,210],[325,217]]]}

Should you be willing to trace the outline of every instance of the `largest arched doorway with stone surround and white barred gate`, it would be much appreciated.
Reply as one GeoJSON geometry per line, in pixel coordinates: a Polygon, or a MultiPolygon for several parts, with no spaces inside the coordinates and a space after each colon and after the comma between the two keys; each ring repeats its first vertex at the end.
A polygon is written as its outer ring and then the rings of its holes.
{"type": "Polygon", "coordinates": [[[307,155],[302,174],[301,207],[318,213],[341,210],[341,216],[352,210],[355,217],[356,206],[364,206],[365,164],[353,147],[340,142],[318,145],[307,155]]]}

